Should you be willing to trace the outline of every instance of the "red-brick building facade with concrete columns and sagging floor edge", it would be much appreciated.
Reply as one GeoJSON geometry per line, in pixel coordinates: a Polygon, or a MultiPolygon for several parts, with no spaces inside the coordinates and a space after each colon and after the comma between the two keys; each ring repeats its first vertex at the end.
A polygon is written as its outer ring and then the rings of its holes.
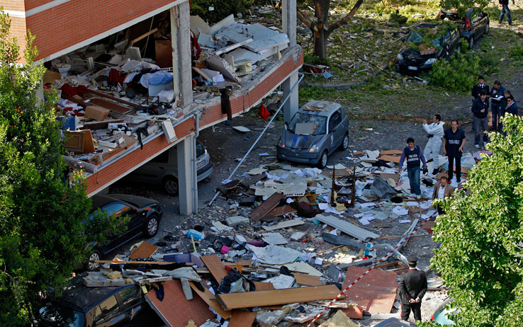
{"type": "MultiPolygon", "coordinates": [[[[189,31],[189,0],[5,0],[4,11],[11,18],[11,33],[18,38],[21,49],[30,30],[36,35],[37,59],[48,62],[152,18],[169,12],[173,49],[174,91],[182,98],[184,115],[174,124],[176,140],[168,142],[163,132],[143,140],[144,147],[130,147],[114,156],[87,176],[87,193],[94,195],[145,164],[154,156],[177,146],[179,160],[179,197],[181,214],[197,212],[196,156],[198,129],[227,120],[220,101],[196,105],[192,98],[191,46],[189,31]]],[[[283,1],[283,32],[290,40],[276,64],[260,74],[259,79],[230,96],[232,116],[240,115],[258,105],[276,87],[283,84],[286,95],[298,81],[303,64],[301,48],[296,45],[296,0],[283,1]]],[[[298,88],[284,106],[288,119],[298,107],[298,88]]]]}

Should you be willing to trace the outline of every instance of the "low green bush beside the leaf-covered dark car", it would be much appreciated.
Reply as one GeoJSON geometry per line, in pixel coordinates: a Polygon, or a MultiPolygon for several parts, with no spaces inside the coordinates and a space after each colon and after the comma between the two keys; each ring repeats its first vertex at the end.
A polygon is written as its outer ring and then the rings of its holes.
{"type": "Polygon", "coordinates": [[[468,92],[484,68],[480,66],[478,55],[464,54],[449,61],[434,62],[429,79],[432,84],[449,91],[468,92]]]}

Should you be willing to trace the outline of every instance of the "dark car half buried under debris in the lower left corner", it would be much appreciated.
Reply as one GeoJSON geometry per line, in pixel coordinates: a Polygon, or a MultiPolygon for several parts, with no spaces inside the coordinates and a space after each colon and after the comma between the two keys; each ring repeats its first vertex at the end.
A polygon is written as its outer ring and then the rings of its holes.
{"type": "Polygon", "coordinates": [[[84,287],[82,275],[72,279],[62,297],[40,308],[33,326],[160,326],[161,320],[145,302],[138,285],[84,287]]]}

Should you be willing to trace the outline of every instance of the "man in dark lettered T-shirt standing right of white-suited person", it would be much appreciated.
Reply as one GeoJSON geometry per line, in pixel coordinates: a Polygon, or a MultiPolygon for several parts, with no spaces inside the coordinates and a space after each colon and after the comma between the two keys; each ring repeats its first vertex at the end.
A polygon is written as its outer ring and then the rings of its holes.
{"type": "Polygon", "coordinates": [[[443,137],[443,154],[449,158],[449,183],[454,173],[454,159],[456,160],[456,182],[461,183],[461,156],[465,146],[465,131],[458,128],[458,120],[452,120],[451,127],[445,131],[443,137]]]}

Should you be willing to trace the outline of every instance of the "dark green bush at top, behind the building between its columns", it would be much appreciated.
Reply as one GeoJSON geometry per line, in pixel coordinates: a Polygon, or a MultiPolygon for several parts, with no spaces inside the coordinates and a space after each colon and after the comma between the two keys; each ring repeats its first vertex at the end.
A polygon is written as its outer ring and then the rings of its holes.
{"type": "Polygon", "coordinates": [[[223,18],[233,13],[243,13],[252,5],[255,0],[237,0],[237,1],[218,1],[218,0],[193,0],[191,6],[191,15],[200,16],[209,24],[218,23],[223,18]],[[213,7],[213,11],[209,11],[213,7]]]}

